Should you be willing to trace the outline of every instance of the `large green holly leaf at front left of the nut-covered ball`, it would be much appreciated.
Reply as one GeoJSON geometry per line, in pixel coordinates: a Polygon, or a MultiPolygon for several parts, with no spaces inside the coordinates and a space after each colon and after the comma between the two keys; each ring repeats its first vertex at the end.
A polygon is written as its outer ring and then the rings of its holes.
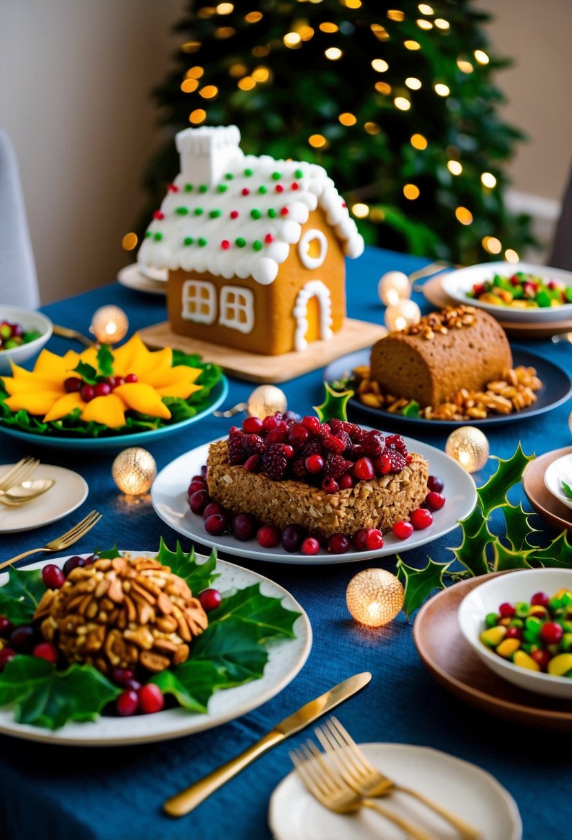
{"type": "Polygon", "coordinates": [[[8,697],[5,702],[14,703],[18,723],[59,729],[67,721],[95,721],[121,694],[92,665],[73,664],[58,671],[45,660],[37,663],[37,657],[18,655],[0,675],[0,705],[8,697]]]}

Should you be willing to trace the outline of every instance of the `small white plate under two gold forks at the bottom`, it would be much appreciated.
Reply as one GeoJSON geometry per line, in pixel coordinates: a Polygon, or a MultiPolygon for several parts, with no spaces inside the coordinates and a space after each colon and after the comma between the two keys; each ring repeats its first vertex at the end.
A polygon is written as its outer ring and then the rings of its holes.
{"type": "MultiPolygon", "coordinates": [[[[481,832],[482,840],[520,840],[523,824],[517,804],[491,774],[429,747],[403,743],[364,743],[372,764],[395,782],[419,790],[481,832]]],[[[439,840],[458,840],[459,832],[412,796],[393,793],[380,804],[423,827],[439,840]]],[[[294,771],[270,799],[268,822],[276,840],[403,840],[403,831],[369,808],[335,814],[321,806],[294,771]]]]}

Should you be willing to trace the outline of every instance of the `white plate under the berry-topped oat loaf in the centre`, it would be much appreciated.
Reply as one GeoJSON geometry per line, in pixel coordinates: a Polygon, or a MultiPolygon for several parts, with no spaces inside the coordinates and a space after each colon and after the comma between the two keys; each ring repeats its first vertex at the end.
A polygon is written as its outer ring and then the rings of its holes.
{"type": "MultiPolygon", "coordinates": [[[[368,428],[364,426],[363,428],[368,428]]],[[[193,475],[200,474],[200,467],[206,464],[206,455],[211,444],[203,444],[191,449],[179,458],[174,459],[161,470],[151,488],[151,500],[159,517],[167,522],[175,531],[185,534],[204,545],[216,546],[227,554],[238,557],[248,557],[254,560],[268,560],[271,563],[350,563],[351,561],[366,560],[372,557],[386,557],[390,554],[403,554],[410,549],[417,549],[420,545],[443,537],[456,528],[459,519],[467,517],[476,504],[475,482],[471,475],[465,472],[449,455],[445,455],[434,446],[422,444],[413,438],[403,438],[409,452],[417,452],[429,461],[429,474],[439,475],[445,481],[445,507],[433,514],[433,524],[424,531],[414,531],[413,535],[400,540],[393,533],[385,534],[382,549],[372,551],[356,551],[351,548],[346,554],[329,554],[320,549],[318,554],[289,554],[278,545],[275,549],[263,549],[256,538],[247,542],[226,534],[222,537],[211,537],[206,533],[203,517],[192,513],[187,501],[187,489],[193,475]]]]}

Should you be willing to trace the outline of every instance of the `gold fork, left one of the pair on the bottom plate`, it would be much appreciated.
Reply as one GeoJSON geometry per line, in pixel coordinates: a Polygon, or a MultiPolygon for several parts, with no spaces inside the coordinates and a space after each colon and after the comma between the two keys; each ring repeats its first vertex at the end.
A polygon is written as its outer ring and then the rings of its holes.
{"type": "Polygon", "coordinates": [[[430,834],[403,819],[391,809],[351,790],[335,767],[324,760],[324,753],[320,752],[313,741],[306,741],[289,754],[306,788],[329,811],[334,811],[336,814],[350,814],[361,811],[364,807],[372,808],[373,811],[377,811],[378,814],[400,827],[409,840],[434,840],[430,834]]]}

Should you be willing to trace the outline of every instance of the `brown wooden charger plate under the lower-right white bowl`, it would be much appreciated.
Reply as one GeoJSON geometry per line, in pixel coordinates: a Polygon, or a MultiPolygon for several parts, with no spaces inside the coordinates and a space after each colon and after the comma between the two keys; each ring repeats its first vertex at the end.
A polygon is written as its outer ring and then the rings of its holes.
{"type": "Polygon", "coordinates": [[[462,580],[439,592],[419,610],[413,640],[429,673],[460,700],[516,723],[559,732],[572,732],[569,701],[545,697],[502,680],[481,662],[460,633],[457,610],[476,586],[497,575],[462,580]]]}

